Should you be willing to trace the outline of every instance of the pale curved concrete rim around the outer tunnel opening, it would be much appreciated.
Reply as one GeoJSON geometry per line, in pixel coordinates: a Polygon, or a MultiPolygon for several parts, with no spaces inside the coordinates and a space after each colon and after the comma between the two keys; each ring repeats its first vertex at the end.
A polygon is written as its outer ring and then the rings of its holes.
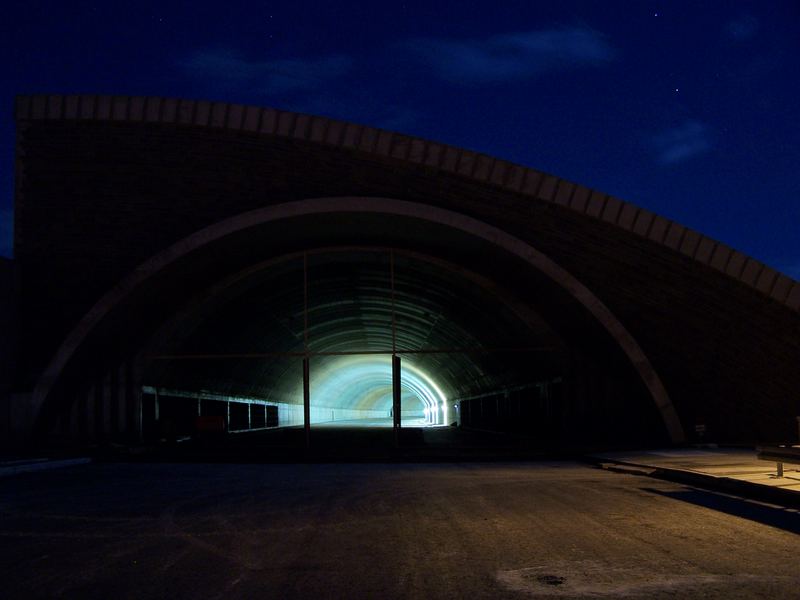
{"type": "Polygon", "coordinates": [[[32,398],[33,413],[38,419],[53,387],[92,330],[150,276],[194,250],[251,227],[283,219],[345,213],[384,214],[449,227],[489,242],[543,273],[577,300],[620,346],[652,396],[671,441],[678,444],[686,440],[667,390],[638,342],[608,307],[572,274],[530,244],[472,217],[416,202],[378,197],[314,198],[256,209],[197,231],[148,259],[100,298],[62,342],[36,383],[32,398]]]}

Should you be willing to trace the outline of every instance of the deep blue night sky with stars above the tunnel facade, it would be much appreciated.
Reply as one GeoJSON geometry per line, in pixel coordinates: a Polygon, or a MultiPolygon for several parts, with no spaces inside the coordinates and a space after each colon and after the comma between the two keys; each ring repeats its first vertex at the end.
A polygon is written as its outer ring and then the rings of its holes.
{"type": "Polygon", "coordinates": [[[800,278],[800,3],[12,2],[0,25],[0,253],[17,93],[276,106],[598,188],[800,278]]]}

